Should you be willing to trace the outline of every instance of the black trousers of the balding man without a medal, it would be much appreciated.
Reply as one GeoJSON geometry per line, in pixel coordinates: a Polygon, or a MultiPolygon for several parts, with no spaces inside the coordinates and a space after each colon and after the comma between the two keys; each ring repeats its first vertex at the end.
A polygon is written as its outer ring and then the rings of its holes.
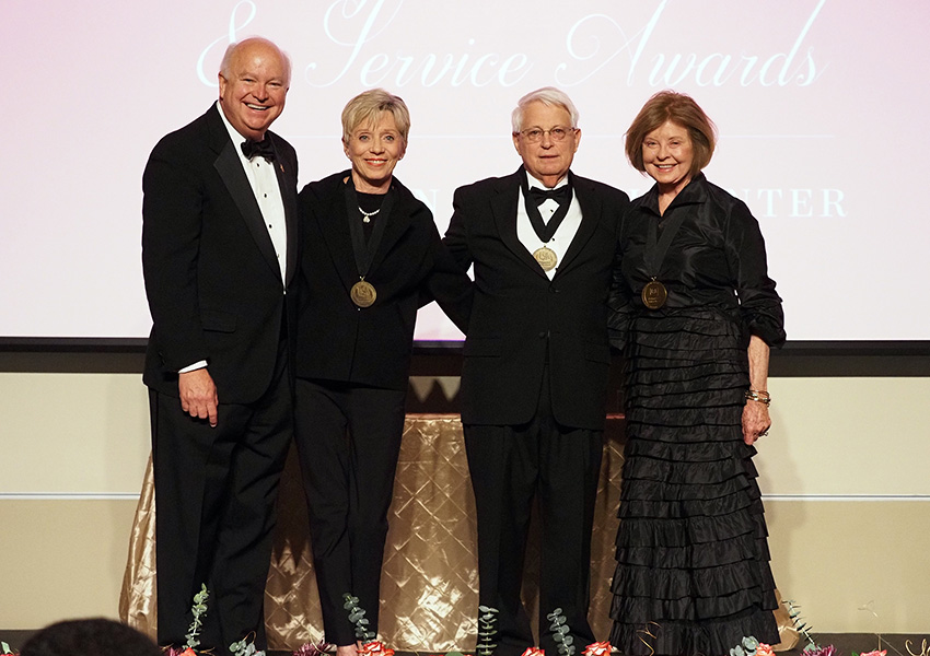
{"type": "Polygon", "coordinates": [[[229,652],[254,637],[266,648],[265,582],[278,482],[293,435],[287,356],[254,403],[222,402],[217,427],[149,391],[155,483],[159,644],[181,646],[194,595],[206,584],[200,649],[229,652]]]}

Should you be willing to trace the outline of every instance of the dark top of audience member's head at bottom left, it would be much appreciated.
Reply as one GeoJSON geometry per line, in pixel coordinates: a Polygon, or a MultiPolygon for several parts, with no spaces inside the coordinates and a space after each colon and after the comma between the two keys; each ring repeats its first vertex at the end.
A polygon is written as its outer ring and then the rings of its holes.
{"type": "Polygon", "coordinates": [[[68,620],[46,626],[23,645],[20,656],[163,656],[148,636],[105,619],[68,620]]]}

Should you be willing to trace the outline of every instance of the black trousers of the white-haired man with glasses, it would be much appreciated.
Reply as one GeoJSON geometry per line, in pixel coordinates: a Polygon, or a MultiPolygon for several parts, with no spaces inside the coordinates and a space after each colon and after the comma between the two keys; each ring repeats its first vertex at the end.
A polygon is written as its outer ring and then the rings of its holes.
{"type": "Polygon", "coordinates": [[[576,654],[592,642],[591,528],[603,432],[557,424],[548,379],[536,417],[523,425],[465,425],[478,524],[479,604],[498,610],[496,656],[534,645],[520,598],[526,534],[538,495],[542,524],[539,646],[557,654],[546,616],[561,608],[576,654]]]}

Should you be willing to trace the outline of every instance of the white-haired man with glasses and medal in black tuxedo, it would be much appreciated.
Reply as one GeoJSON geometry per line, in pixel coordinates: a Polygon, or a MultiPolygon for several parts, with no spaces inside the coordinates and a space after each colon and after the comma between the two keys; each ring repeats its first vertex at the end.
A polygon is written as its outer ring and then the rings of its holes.
{"type": "MultiPolygon", "coordinates": [[[[570,172],[578,110],[545,87],[513,112],[523,166],[456,190],[445,244],[474,263],[462,423],[478,522],[479,602],[496,609],[497,656],[533,645],[520,599],[530,511],[539,497],[540,646],[561,609],[576,653],[588,623],[591,527],[603,448],[607,291],[626,194],[570,172]]],[[[480,641],[479,641],[480,646],[480,641]]]]}

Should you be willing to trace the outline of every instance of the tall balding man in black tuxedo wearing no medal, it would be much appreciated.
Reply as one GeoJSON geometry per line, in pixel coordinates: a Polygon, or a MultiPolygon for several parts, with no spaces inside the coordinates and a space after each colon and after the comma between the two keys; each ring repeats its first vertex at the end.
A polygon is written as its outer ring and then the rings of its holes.
{"type": "Polygon", "coordinates": [[[289,83],[275,44],[231,45],[219,102],[164,137],[142,178],[162,645],[183,644],[206,584],[198,649],[226,653],[253,635],[265,648],[299,255],[297,154],[268,127],[289,83]]]}

